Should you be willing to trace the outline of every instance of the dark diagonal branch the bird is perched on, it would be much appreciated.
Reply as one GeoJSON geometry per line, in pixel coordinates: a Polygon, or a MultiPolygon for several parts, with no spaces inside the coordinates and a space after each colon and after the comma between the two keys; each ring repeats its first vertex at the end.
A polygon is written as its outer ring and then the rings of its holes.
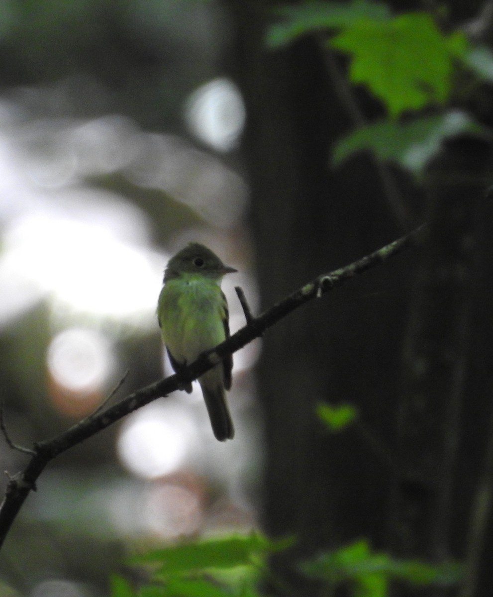
{"type": "Polygon", "coordinates": [[[95,413],[79,421],[79,423],[60,435],[35,444],[33,446],[33,456],[27,466],[8,482],[4,500],[0,506],[0,547],[4,543],[8,531],[30,491],[36,489],[36,481],[50,460],[74,445],[80,444],[85,439],[95,435],[95,433],[106,429],[106,427],[109,427],[128,413],[137,410],[137,408],[143,407],[157,398],[167,396],[174,390],[183,387],[183,384],[200,377],[226,356],[232,355],[236,350],[261,336],[267,328],[272,327],[301,305],[313,298],[321,297],[322,294],[340,286],[356,274],[383,263],[389,257],[402,251],[403,248],[414,244],[422,230],[423,226],[420,226],[408,235],[402,236],[402,238],[374,251],[368,256],[362,257],[358,261],[318,276],[318,278],[298,288],[294,293],[279,301],[258,317],[250,318],[245,327],[223,343],[218,344],[214,349],[201,355],[189,367],[180,370],[179,375],[175,374],[143,387],[122,399],[118,404],[107,407],[103,411],[95,411],[95,413]]]}

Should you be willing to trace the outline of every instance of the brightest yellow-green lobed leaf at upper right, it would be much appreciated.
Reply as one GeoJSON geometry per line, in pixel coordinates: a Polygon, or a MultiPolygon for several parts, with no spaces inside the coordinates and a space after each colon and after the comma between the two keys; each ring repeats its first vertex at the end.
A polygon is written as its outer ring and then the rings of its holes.
{"type": "Polygon", "coordinates": [[[405,110],[445,103],[453,60],[467,49],[463,33],[443,34],[426,13],[360,19],[329,44],[352,56],[351,81],[366,85],[394,118],[405,110]]]}

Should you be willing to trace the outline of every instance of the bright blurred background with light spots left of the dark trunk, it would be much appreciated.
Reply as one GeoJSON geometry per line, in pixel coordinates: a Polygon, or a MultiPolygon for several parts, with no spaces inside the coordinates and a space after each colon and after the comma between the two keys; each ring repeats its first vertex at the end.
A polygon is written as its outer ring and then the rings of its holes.
{"type": "MultiPolygon", "coordinates": [[[[127,370],[113,400],[171,373],[155,307],[187,241],[239,270],[223,284],[232,331],[244,325],[235,285],[257,309],[245,113],[221,69],[229,37],[215,2],[0,5],[0,358],[13,441],[67,429],[127,370]]],[[[8,538],[4,578],[36,597],[101,595],[136,544],[252,528],[259,350],[235,355],[233,442],[215,441],[195,387],[54,461],[8,538]]],[[[11,474],[26,463],[4,440],[0,459],[11,474]]]]}

